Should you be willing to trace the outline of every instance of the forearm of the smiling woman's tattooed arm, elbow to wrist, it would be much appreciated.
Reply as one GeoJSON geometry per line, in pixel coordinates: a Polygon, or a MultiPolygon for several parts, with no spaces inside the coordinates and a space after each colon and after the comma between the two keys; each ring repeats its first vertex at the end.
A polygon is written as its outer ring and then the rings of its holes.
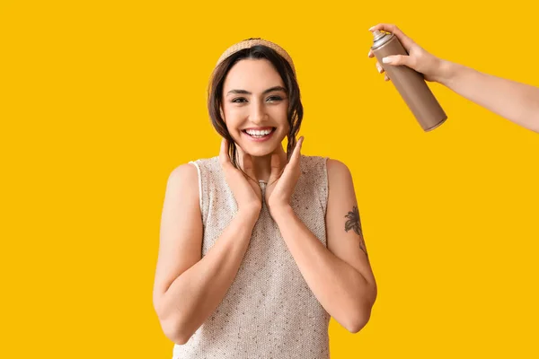
{"type": "Polygon", "coordinates": [[[357,332],[370,317],[374,285],[324,247],[291,207],[274,212],[287,248],[314,296],[343,327],[357,332]]]}

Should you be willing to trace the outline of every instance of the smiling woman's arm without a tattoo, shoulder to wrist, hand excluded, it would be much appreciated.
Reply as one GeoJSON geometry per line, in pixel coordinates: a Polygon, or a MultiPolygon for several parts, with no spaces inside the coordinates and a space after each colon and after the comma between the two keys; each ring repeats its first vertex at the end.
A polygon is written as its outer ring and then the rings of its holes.
{"type": "Polygon", "coordinates": [[[240,206],[234,220],[201,258],[198,188],[198,172],[192,164],[172,171],[161,220],[154,307],[166,337],[180,345],[187,343],[223,300],[260,212],[254,206],[240,206]]]}

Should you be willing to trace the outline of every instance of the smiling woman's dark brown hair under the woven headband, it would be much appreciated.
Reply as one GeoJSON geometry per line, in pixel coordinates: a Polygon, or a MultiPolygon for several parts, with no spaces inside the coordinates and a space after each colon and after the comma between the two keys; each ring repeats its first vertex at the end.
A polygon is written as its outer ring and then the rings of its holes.
{"type": "Polygon", "coordinates": [[[296,146],[296,136],[301,127],[303,119],[303,105],[300,99],[299,85],[297,83],[294,69],[284,57],[272,49],[263,45],[256,45],[252,48],[244,48],[234,52],[229,57],[226,57],[213,71],[210,78],[208,88],[208,111],[211,123],[215,127],[217,133],[228,141],[228,153],[234,167],[238,167],[237,150],[234,144],[234,139],[230,136],[225,125],[225,120],[221,117],[221,105],[223,99],[223,84],[225,83],[226,74],[240,60],[245,58],[264,58],[270,61],[280,75],[288,96],[287,119],[290,130],[287,134],[287,159],[296,146]]]}

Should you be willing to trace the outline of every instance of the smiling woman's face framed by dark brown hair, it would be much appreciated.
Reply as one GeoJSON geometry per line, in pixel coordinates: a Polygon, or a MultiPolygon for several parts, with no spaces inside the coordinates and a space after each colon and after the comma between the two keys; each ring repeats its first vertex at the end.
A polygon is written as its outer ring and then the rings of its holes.
{"type": "Polygon", "coordinates": [[[245,153],[272,153],[287,136],[287,92],[270,61],[236,63],[226,75],[222,100],[226,128],[245,153]]]}

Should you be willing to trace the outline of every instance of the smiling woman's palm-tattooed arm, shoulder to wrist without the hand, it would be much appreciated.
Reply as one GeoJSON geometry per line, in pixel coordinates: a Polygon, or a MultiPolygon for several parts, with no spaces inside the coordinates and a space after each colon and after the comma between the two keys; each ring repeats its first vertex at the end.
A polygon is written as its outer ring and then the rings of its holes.
{"type": "Polygon", "coordinates": [[[367,260],[359,218],[349,215],[357,205],[348,168],[328,161],[328,180],[327,248],[287,203],[274,204],[271,215],[323,308],[344,328],[357,333],[370,318],[376,301],[376,281],[367,260]]]}

